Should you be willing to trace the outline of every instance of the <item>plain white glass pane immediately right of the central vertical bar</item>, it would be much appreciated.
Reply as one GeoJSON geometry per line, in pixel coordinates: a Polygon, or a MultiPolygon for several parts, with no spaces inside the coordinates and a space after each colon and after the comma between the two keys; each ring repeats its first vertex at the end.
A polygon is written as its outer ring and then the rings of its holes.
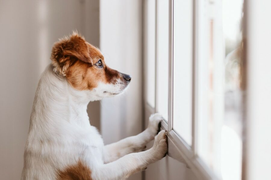
{"type": "Polygon", "coordinates": [[[192,144],[192,0],[174,1],[173,129],[192,144]]]}

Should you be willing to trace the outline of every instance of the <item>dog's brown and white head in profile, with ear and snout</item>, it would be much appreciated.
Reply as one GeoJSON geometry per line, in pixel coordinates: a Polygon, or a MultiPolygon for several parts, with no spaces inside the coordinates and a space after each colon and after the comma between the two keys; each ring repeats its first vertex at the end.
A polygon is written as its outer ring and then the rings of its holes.
{"type": "Polygon", "coordinates": [[[108,67],[100,50],[75,32],[54,44],[51,60],[55,73],[76,90],[91,91],[96,100],[120,94],[131,81],[131,76],[108,67]]]}

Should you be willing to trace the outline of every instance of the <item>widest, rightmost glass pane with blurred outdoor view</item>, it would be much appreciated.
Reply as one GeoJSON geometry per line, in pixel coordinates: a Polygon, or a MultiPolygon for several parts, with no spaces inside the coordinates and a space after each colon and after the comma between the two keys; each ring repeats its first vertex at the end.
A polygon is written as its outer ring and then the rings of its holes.
{"type": "Polygon", "coordinates": [[[223,180],[241,179],[243,0],[200,4],[198,155],[223,180]]]}

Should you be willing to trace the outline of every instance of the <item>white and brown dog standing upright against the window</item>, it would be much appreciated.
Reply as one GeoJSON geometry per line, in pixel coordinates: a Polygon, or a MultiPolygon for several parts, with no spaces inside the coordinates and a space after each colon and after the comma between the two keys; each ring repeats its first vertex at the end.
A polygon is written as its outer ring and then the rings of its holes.
{"type": "Polygon", "coordinates": [[[73,32],[53,45],[51,61],[34,98],[22,180],[127,179],[166,155],[166,131],[157,134],[160,114],[150,116],[142,133],[106,146],[90,125],[88,103],[123,93],[131,81],[108,67],[98,48],[73,32]]]}

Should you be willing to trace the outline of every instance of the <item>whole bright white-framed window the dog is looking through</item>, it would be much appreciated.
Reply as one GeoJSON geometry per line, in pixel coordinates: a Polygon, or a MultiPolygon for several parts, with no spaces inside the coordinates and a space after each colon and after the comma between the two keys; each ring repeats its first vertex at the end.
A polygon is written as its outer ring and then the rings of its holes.
{"type": "Polygon", "coordinates": [[[243,0],[148,0],[147,106],[200,179],[241,179],[242,8],[243,0]]]}

